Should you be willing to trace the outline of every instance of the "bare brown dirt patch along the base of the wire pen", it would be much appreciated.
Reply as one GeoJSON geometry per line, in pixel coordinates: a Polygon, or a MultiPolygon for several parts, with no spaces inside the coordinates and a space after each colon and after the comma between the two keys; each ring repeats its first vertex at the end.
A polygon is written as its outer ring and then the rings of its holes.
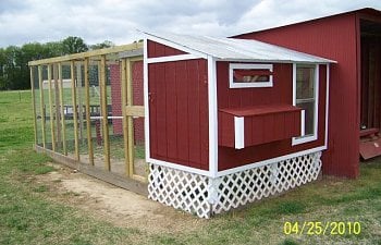
{"type": "Polygon", "coordinates": [[[175,210],[142,195],[87,176],[62,166],[37,176],[49,186],[50,198],[81,208],[119,226],[149,233],[173,233],[200,229],[206,220],[175,210]]]}

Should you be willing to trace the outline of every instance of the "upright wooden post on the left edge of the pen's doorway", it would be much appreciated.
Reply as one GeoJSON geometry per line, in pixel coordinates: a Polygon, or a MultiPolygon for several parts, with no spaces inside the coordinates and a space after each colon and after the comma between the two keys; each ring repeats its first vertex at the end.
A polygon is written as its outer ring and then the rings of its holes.
{"type": "Polygon", "coordinates": [[[121,74],[121,90],[122,90],[122,115],[123,115],[123,139],[124,139],[124,163],[125,163],[125,175],[130,176],[130,150],[128,150],[128,124],[127,124],[127,113],[125,106],[127,105],[127,85],[126,85],[126,59],[122,59],[121,63],[122,74],[121,74]]]}

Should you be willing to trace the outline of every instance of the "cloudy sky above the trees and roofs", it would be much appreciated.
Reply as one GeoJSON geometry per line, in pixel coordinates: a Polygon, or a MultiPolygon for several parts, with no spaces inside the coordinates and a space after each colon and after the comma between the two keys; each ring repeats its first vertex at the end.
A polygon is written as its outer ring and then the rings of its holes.
{"type": "Polygon", "coordinates": [[[230,36],[366,7],[381,0],[0,0],[0,47],[67,36],[122,45],[136,29],[230,36]]]}

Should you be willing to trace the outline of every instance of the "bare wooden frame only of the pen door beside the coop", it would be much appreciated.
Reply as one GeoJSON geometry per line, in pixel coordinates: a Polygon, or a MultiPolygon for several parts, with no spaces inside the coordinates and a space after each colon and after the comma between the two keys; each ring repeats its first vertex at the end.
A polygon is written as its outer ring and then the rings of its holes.
{"type": "Polygon", "coordinates": [[[142,61],[142,58],[123,58],[121,59],[121,90],[122,90],[122,113],[123,113],[123,139],[124,139],[124,159],[126,176],[147,182],[146,176],[135,173],[135,156],[134,156],[134,119],[144,118],[144,106],[135,106],[133,100],[133,64],[142,61]]]}

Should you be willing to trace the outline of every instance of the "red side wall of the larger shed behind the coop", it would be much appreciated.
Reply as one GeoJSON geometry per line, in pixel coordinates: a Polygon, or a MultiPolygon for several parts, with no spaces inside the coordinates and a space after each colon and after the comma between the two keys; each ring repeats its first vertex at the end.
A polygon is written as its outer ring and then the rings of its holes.
{"type": "Polygon", "coordinates": [[[236,36],[258,39],[337,61],[331,65],[329,149],[323,173],[359,174],[358,21],[355,13],[236,36]]]}

